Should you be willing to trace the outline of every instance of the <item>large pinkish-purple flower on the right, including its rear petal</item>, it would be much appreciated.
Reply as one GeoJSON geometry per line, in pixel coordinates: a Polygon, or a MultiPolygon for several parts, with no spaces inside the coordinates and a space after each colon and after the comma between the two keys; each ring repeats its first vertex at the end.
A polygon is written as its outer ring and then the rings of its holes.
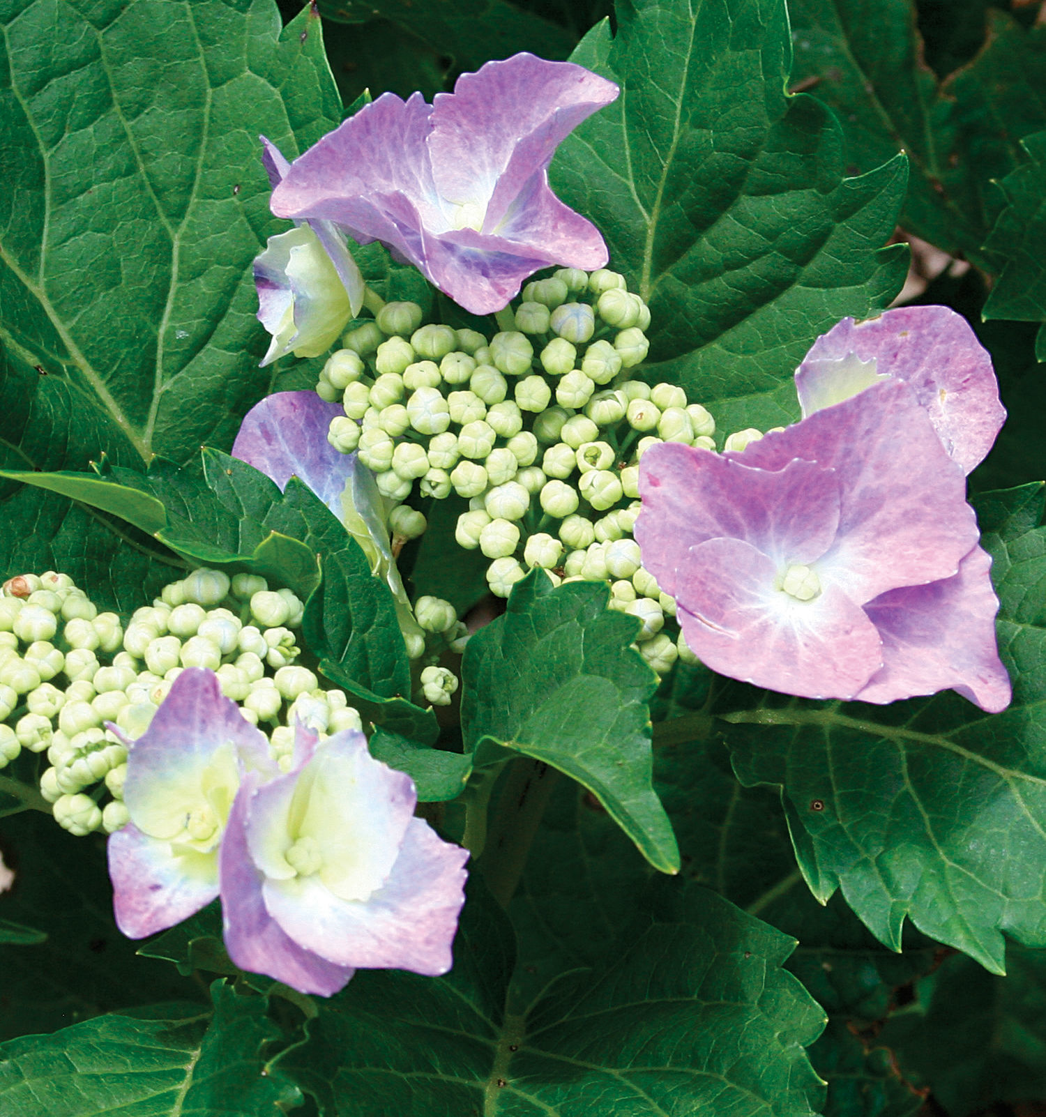
{"type": "Polygon", "coordinates": [[[713,670],[809,698],[1008,705],[964,478],[1002,412],[969,327],[939,312],[840,324],[797,376],[807,417],[741,452],[644,456],[643,562],[713,670]]]}

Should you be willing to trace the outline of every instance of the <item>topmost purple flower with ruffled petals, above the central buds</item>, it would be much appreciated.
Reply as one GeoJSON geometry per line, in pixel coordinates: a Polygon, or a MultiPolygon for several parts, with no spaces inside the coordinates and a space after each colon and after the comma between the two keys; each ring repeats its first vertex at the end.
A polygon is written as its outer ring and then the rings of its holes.
{"type": "Polygon", "coordinates": [[[431,105],[382,94],[283,172],[273,212],[380,240],[466,309],[498,311],[539,268],[607,262],[596,227],[549,189],[548,166],[617,94],[529,54],[463,74],[431,105]]]}

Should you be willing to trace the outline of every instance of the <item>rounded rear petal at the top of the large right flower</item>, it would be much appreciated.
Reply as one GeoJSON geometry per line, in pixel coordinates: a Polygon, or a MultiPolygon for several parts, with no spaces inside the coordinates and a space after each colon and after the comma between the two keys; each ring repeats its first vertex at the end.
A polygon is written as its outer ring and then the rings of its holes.
{"type": "Polygon", "coordinates": [[[818,407],[828,362],[850,354],[875,361],[879,375],[905,381],[930,416],[948,454],[970,472],[1006,419],[991,357],[969,323],[947,306],[901,306],[877,318],[844,318],[814,343],[796,373],[803,414],[818,407]]]}

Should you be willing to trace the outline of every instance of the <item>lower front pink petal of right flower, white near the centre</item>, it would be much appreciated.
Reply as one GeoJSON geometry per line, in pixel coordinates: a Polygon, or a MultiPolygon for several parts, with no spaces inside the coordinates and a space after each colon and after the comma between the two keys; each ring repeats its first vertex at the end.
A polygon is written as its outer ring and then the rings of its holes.
{"type": "Polygon", "coordinates": [[[714,671],[803,698],[853,698],[882,663],[864,611],[837,586],[811,601],[776,589],[780,569],[741,540],[709,540],[678,570],[678,618],[714,671]]]}

